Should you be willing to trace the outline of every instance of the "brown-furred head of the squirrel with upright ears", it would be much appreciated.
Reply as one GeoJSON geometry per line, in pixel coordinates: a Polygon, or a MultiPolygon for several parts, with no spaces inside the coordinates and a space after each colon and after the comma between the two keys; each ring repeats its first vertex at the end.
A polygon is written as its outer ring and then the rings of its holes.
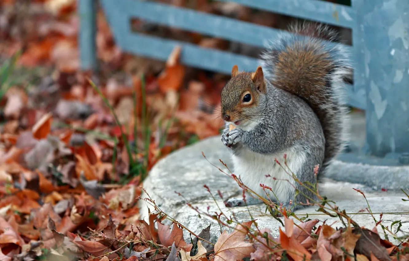
{"type": "Polygon", "coordinates": [[[245,124],[255,115],[260,115],[260,110],[256,108],[265,100],[265,88],[261,66],[255,72],[239,72],[237,65],[234,65],[231,79],[222,90],[222,119],[245,124]]]}

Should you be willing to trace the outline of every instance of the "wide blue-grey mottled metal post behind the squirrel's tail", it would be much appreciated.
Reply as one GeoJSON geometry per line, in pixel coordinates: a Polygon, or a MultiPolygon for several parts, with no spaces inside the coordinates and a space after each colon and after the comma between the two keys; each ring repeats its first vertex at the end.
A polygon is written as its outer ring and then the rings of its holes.
{"type": "MultiPolygon", "coordinates": [[[[366,88],[371,155],[409,152],[409,1],[354,0],[357,72],[366,88]]],[[[388,155],[389,154],[389,155],[388,155]]]]}

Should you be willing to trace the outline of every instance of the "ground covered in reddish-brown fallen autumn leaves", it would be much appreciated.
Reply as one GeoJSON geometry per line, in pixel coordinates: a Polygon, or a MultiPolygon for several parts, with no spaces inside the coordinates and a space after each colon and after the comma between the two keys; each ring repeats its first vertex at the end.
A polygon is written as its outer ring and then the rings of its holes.
{"type": "MultiPolygon", "coordinates": [[[[197,9],[215,12],[207,1],[197,3],[197,9]]],[[[274,23],[250,17],[245,9],[234,12],[242,20],[274,23]]],[[[228,78],[185,67],[178,48],[166,63],[124,54],[101,10],[97,17],[99,71],[82,72],[76,1],[0,5],[1,261],[409,258],[406,238],[397,247],[353,220],[339,229],[308,219],[294,225],[298,218],[272,202],[266,202],[268,209],[280,213],[285,225],[279,238],[252,228],[251,218],[243,224],[227,218],[225,225],[236,229],[223,232],[216,243],[209,242],[208,228],[184,241],[187,228],[176,220],[172,227],[163,225],[170,217],[159,208],[149,224],[139,220],[137,200],[155,206],[149,198],[138,199],[155,162],[219,133],[222,122],[213,108],[228,78]]],[[[161,30],[203,47],[226,46],[220,39],[161,30]]],[[[316,204],[348,220],[325,198],[316,204]]],[[[392,236],[399,230],[382,228],[392,236]]]]}

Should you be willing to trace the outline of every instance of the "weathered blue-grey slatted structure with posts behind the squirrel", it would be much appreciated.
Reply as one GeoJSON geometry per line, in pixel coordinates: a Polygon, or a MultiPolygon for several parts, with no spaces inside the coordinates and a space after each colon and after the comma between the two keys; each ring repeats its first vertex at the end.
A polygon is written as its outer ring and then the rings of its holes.
{"type": "MultiPolygon", "coordinates": [[[[225,0],[222,0],[225,1],[225,0]]],[[[409,164],[409,1],[352,0],[351,6],[321,0],[231,0],[255,9],[352,29],[355,76],[348,102],[366,112],[366,146],[341,160],[381,165],[409,164]]],[[[100,0],[117,45],[125,52],[166,60],[182,45],[182,63],[230,73],[254,70],[256,59],[190,43],[132,32],[131,18],[263,47],[278,29],[224,16],[142,0],[100,0]]],[[[82,69],[96,67],[95,1],[79,0],[82,69]]]]}

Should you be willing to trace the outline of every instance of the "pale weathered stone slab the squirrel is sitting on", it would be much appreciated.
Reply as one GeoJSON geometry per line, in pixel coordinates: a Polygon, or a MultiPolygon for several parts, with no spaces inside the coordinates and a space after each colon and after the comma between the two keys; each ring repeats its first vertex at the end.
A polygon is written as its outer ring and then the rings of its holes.
{"type": "MultiPolygon", "coordinates": [[[[231,215],[231,211],[235,213],[238,221],[250,220],[249,212],[253,218],[257,219],[259,228],[268,227],[272,230],[272,234],[277,236],[279,233],[280,223],[272,218],[268,212],[265,214],[264,205],[250,206],[249,210],[246,207],[237,207],[227,209],[224,207],[223,200],[218,196],[218,190],[226,199],[237,193],[238,185],[230,178],[229,175],[222,173],[218,168],[226,173],[229,171],[223,166],[219,159],[223,160],[227,166],[231,166],[230,157],[220,142],[220,137],[211,137],[192,146],[182,148],[175,153],[160,160],[152,169],[148,179],[144,182],[144,188],[149,193],[149,196],[155,200],[156,204],[165,211],[169,216],[175,218],[194,233],[199,233],[201,229],[207,227],[211,223],[211,240],[216,241],[220,235],[220,227],[218,223],[204,215],[198,217],[198,213],[191,209],[186,204],[186,198],[194,207],[198,207],[200,211],[220,213],[220,209],[227,216],[231,215]],[[202,151],[205,153],[207,160],[202,156],[202,151]],[[215,166],[212,166],[214,164],[215,166]],[[217,205],[213,201],[210,193],[203,187],[207,184],[211,193],[216,198],[217,205]],[[184,198],[178,196],[174,191],[181,193],[184,198]],[[218,209],[220,207],[220,209],[218,209]]],[[[358,170],[359,171],[359,170],[358,170]]],[[[340,170],[340,173],[342,170],[340,170]]],[[[357,213],[367,207],[365,198],[353,188],[361,189],[365,192],[366,199],[371,206],[375,217],[379,219],[379,213],[384,212],[382,220],[384,225],[390,226],[394,220],[401,220],[402,230],[409,229],[409,216],[407,214],[389,214],[388,212],[409,212],[409,202],[404,202],[401,198],[405,195],[400,191],[373,191],[369,187],[364,187],[360,184],[351,184],[348,182],[336,182],[326,179],[319,186],[322,196],[327,196],[329,199],[337,202],[340,209],[346,209],[347,213],[357,213]]],[[[143,195],[142,197],[146,197],[143,195]]],[[[146,202],[141,201],[142,217],[147,217],[148,208],[146,202]]],[[[150,207],[152,210],[152,207],[150,207]]],[[[316,212],[318,207],[309,207],[296,211],[299,217],[308,214],[309,218],[318,218],[321,221],[327,220],[327,224],[338,222],[335,226],[342,226],[338,218],[332,218],[321,212],[316,212]]],[[[365,211],[366,212],[366,211],[365,211]]],[[[359,213],[351,214],[350,216],[361,226],[370,229],[375,225],[373,218],[369,214],[359,213]]],[[[367,212],[366,212],[367,213],[367,212]]],[[[296,222],[297,223],[297,222],[296,222]]],[[[224,229],[224,228],[222,228],[224,229]]],[[[229,229],[228,229],[229,231],[229,229]]],[[[189,238],[189,233],[185,232],[185,238],[189,238]]]]}

